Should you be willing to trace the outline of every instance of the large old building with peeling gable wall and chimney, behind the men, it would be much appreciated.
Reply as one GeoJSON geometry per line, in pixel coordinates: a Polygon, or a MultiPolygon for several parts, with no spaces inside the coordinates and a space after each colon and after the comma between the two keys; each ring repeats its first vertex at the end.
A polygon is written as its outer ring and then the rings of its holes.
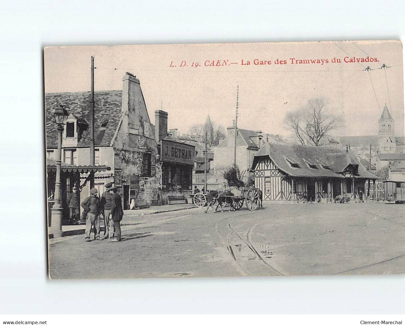
{"type": "MultiPolygon", "coordinates": [[[[126,73],[122,90],[96,91],[94,99],[95,165],[108,167],[96,171],[95,187],[102,193],[104,185],[113,181],[124,209],[129,209],[131,202],[132,206],[157,204],[159,152],[139,79],[126,73]]],[[[59,106],[69,113],[62,136],[62,163],[90,165],[90,92],[45,94],[47,158],[54,159],[57,150],[53,112],[59,106]]],[[[86,182],[89,173],[80,170],[83,200],[90,191],[86,182]]],[[[62,203],[74,185],[77,184],[65,184],[62,203]]]]}

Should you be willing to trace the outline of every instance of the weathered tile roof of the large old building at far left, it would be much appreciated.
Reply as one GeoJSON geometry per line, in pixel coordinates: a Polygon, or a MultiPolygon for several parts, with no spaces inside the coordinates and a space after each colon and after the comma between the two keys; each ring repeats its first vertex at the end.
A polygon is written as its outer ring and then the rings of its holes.
{"type": "MultiPolygon", "coordinates": [[[[122,118],[122,90],[103,90],[94,92],[94,145],[109,146],[122,118]],[[107,122],[106,127],[101,124],[107,122]]],[[[59,92],[45,94],[45,122],[47,148],[58,145],[53,112],[63,105],[68,113],[82,122],[83,133],[77,143],[78,147],[90,146],[90,92],[59,92]]]]}

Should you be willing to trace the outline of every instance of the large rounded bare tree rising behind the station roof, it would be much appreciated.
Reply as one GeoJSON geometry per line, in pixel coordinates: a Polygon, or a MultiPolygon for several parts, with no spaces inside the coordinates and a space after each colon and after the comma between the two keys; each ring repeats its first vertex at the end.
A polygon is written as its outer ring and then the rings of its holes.
{"type": "Polygon", "coordinates": [[[318,146],[330,131],[343,126],[343,117],[328,107],[325,98],[313,98],[305,107],[289,112],[284,124],[301,144],[318,146]]]}

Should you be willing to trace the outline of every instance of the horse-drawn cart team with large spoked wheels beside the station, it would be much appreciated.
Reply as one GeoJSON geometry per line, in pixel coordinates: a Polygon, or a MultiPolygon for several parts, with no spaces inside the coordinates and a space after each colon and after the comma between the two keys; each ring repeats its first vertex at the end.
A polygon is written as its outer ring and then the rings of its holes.
{"type": "Polygon", "coordinates": [[[192,195],[192,199],[197,207],[217,204],[217,208],[231,207],[232,210],[241,210],[243,203],[245,203],[247,209],[254,211],[262,204],[260,190],[254,187],[243,190],[242,195],[232,195],[231,192],[210,191],[196,193],[192,195]]]}

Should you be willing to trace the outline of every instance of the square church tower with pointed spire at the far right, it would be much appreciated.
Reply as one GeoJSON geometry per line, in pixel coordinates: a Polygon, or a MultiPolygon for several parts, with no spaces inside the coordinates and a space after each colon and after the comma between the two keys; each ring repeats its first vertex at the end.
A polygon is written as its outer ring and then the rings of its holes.
{"type": "Polygon", "coordinates": [[[388,111],[387,104],[378,120],[378,147],[381,154],[396,153],[394,119],[388,111]]]}

